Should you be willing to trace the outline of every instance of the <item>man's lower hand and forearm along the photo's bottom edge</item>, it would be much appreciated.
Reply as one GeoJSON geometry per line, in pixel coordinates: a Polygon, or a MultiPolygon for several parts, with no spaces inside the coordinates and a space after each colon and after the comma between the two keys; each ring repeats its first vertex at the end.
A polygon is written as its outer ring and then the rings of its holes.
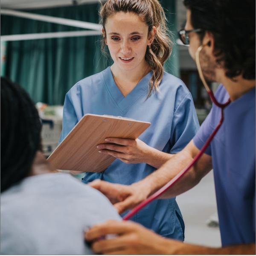
{"type": "Polygon", "coordinates": [[[255,254],[254,244],[237,244],[221,248],[186,244],[158,236],[151,230],[132,221],[106,221],[84,233],[87,241],[92,241],[96,253],[109,255],[132,254],[181,254],[181,255],[231,255],[255,254]],[[107,235],[116,235],[108,239],[107,235]],[[105,237],[106,239],[99,239],[105,237]]]}

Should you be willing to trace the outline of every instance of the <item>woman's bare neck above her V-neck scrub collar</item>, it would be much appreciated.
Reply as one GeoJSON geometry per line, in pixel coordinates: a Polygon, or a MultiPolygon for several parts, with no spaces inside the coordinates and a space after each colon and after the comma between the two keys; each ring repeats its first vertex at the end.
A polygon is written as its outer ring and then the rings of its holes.
{"type": "Polygon", "coordinates": [[[115,63],[111,66],[116,85],[124,96],[127,96],[149,71],[150,67],[145,60],[133,70],[122,70],[115,63]]]}

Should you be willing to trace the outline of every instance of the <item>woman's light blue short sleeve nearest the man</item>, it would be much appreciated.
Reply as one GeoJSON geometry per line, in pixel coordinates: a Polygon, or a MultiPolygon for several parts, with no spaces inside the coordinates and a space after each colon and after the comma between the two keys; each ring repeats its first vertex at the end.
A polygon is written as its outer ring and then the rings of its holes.
{"type": "Polygon", "coordinates": [[[198,131],[199,123],[191,93],[187,93],[177,106],[171,129],[172,148],[170,153],[176,154],[181,151],[198,131]],[[174,142],[174,144],[173,144],[174,142]]]}

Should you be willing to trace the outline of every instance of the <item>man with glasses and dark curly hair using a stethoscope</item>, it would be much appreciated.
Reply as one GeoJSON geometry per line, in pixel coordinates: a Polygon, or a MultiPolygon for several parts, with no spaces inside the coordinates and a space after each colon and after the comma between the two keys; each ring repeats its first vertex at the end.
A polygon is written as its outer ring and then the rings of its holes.
{"type": "MultiPolygon", "coordinates": [[[[221,85],[215,92],[224,122],[198,162],[161,195],[173,198],[194,187],[213,168],[221,248],[182,243],[128,221],[90,228],[85,239],[107,254],[255,254],[255,0],[184,0],[186,26],[179,32],[200,77],[221,85]],[[107,234],[114,239],[97,240],[107,234]],[[96,239],[96,240],[95,240],[96,239]]],[[[218,105],[218,104],[217,104],[218,105]]],[[[131,209],[181,172],[200,152],[221,118],[212,109],[190,143],[157,171],[130,186],[91,183],[121,211],[131,209]]]]}

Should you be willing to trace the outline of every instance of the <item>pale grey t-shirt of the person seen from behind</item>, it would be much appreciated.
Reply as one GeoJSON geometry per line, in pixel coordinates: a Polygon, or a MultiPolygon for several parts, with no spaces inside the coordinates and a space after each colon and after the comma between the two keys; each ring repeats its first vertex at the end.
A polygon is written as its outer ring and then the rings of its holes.
{"type": "Polygon", "coordinates": [[[120,220],[104,195],[64,173],[27,177],[0,200],[1,254],[92,254],[84,230],[120,220]]]}

